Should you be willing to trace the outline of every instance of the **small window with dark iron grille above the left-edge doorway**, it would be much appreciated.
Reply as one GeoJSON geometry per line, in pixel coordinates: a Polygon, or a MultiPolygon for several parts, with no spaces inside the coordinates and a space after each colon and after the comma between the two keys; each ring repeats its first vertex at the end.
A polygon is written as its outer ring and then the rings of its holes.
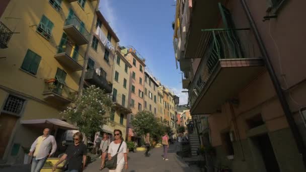
{"type": "Polygon", "coordinates": [[[20,114],[24,103],[25,103],[24,99],[21,99],[13,95],[9,95],[6,104],[3,107],[3,110],[14,114],[20,114]]]}

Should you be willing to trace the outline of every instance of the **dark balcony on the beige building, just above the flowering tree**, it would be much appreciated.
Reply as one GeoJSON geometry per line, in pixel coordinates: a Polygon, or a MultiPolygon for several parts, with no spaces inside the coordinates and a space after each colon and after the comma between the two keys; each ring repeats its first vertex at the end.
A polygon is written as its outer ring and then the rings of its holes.
{"type": "Polygon", "coordinates": [[[112,93],[112,85],[108,83],[106,78],[96,72],[96,69],[89,69],[85,74],[85,80],[90,84],[94,84],[105,93],[112,93]]]}

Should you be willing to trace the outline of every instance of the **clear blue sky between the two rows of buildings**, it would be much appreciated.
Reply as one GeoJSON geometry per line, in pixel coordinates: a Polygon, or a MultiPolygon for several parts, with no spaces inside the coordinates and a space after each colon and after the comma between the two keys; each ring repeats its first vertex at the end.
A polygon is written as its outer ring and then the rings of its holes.
{"type": "Polygon", "coordinates": [[[101,0],[99,7],[120,45],[136,48],[149,71],[180,97],[180,104],[187,104],[172,43],[175,4],[174,0],[101,0]]]}

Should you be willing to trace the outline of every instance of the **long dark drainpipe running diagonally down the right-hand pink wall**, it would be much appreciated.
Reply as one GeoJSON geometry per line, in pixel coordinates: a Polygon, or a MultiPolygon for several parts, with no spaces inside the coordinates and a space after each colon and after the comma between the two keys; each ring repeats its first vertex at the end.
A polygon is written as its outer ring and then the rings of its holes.
{"type": "Polygon", "coordinates": [[[253,30],[253,32],[255,34],[255,37],[256,37],[257,43],[259,45],[260,51],[261,51],[261,53],[264,56],[263,59],[264,59],[264,62],[266,64],[267,70],[268,70],[268,72],[270,74],[271,80],[273,82],[274,89],[276,91],[277,97],[278,97],[278,99],[279,99],[279,101],[281,103],[282,109],[283,109],[283,111],[285,113],[285,117],[286,117],[287,122],[288,122],[288,124],[290,126],[290,130],[292,132],[292,135],[293,135],[294,141],[296,143],[297,149],[298,149],[298,151],[299,151],[299,153],[300,153],[300,155],[302,157],[302,160],[303,160],[303,163],[304,163],[304,167],[306,167],[306,157],[305,157],[306,156],[306,149],[305,149],[305,145],[303,144],[302,136],[301,136],[301,134],[300,134],[296,124],[295,124],[295,121],[294,121],[294,118],[293,118],[293,116],[291,114],[288,102],[287,102],[286,97],[285,97],[285,95],[284,95],[284,93],[283,93],[283,91],[282,91],[282,89],[280,87],[280,83],[279,83],[279,81],[277,79],[277,76],[276,76],[275,71],[273,69],[273,66],[271,64],[271,60],[270,60],[269,54],[268,54],[267,49],[264,46],[264,43],[263,43],[263,41],[261,39],[261,36],[260,36],[259,31],[257,29],[257,26],[256,26],[256,24],[255,24],[255,22],[253,20],[252,15],[251,15],[250,9],[249,9],[249,7],[248,7],[248,5],[246,3],[246,0],[240,0],[240,2],[242,4],[242,6],[244,8],[244,11],[245,11],[245,13],[247,15],[247,18],[248,18],[248,20],[250,22],[251,28],[252,28],[252,30],[253,30]]]}

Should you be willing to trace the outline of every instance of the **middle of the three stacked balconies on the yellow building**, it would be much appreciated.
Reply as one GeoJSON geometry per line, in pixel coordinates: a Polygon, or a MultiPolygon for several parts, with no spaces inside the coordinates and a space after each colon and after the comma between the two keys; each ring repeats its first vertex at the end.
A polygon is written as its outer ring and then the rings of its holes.
{"type": "Polygon", "coordinates": [[[57,48],[56,60],[70,71],[83,70],[84,57],[69,44],[57,48]]]}

